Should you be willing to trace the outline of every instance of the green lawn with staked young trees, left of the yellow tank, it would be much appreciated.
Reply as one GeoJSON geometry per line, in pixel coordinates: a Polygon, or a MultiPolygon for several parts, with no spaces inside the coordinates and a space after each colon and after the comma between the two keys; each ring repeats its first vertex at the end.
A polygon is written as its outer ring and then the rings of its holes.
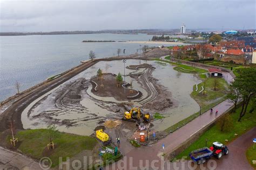
{"type": "MultiPolygon", "coordinates": [[[[44,157],[43,151],[47,150],[47,144],[49,143],[49,131],[46,129],[38,130],[25,130],[16,134],[19,142],[18,149],[24,154],[32,156],[36,159],[44,157]]],[[[6,141],[10,141],[10,136],[6,141]]],[[[48,157],[52,160],[52,167],[58,165],[59,157],[63,157],[63,161],[66,157],[73,157],[73,155],[87,149],[92,150],[96,146],[97,140],[92,137],[57,132],[57,137],[53,139],[56,148],[53,153],[48,157]]]]}

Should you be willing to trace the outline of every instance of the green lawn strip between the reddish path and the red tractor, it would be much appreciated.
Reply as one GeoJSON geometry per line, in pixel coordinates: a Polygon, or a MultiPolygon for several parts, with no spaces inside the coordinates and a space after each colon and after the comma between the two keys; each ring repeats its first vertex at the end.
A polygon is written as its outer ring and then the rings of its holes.
{"type": "MultiPolygon", "coordinates": [[[[249,111],[251,108],[251,105],[248,106],[247,110],[249,111]]],[[[209,130],[207,130],[203,135],[199,137],[195,142],[193,142],[192,145],[190,145],[188,148],[186,148],[183,152],[177,155],[177,159],[181,159],[182,157],[188,157],[188,154],[198,148],[205,147],[205,139],[208,140],[207,147],[210,147],[212,145],[212,142],[219,141],[223,144],[228,144],[228,142],[225,142],[225,139],[227,139],[229,142],[234,140],[235,138],[239,137],[239,135],[244,134],[246,131],[250,130],[252,127],[256,125],[256,111],[254,110],[253,113],[246,113],[245,116],[242,118],[240,122],[238,122],[239,113],[240,113],[241,107],[237,109],[235,113],[229,113],[231,115],[231,118],[233,120],[233,128],[229,132],[221,132],[216,125],[213,125],[209,130]],[[238,136],[235,136],[234,134],[237,133],[238,136]]],[[[255,151],[248,151],[248,155],[251,158],[255,158],[256,154],[255,151]],[[251,157],[251,155],[253,157],[251,157]]]]}

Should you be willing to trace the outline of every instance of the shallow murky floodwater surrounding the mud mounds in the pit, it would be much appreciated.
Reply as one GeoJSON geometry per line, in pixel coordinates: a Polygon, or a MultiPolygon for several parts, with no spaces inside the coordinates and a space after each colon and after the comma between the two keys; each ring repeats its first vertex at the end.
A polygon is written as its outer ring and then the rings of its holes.
{"type": "MultiPolygon", "coordinates": [[[[153,121],[153,128],[157,131],[165,130],[167,127],[177,123],[178,121],[188,117],[189,115],[199,111],[199,105],[190,97],[190,93],[193,90],[193,85],[200,83],[200,80],[193,74],[180,73],[173,70],[173,66],[169,64],[159,64],[159,62],[154,61],[143,61],[139,60],[127,60],[126,66],[128,65],[138,65],[138,64],[151,64],[156,67],[152,72],[152,76],[158,79],[158,83],[163,85],[172,93],[172,98],[178,102],[178,107],[168,108],[163,112],[166,118],[162,120],[153,121]]],[[[114,73],[118,74],[124,72],[124,64],[122,60],[116,60],[111,62],[99,62],[93,67],[77,74],[77,76],[66,81],[62,85],[56,87],[55,89],[39,97],[37,100],[33,101],[25,110],[22,112],[22,123],[24,128],[46,128],[49,124],[56,124],[58,130],[76,133],[82,135],[90,135],[93,130],[98,126],[98,122],[108,115],[116,114],[107,109],[113,103],[127,103],[127,101],[119,101],[113,97],[99,97],[91,93],[92,86],[89,84],[89,88],[82,92],[82,100],[80,101],[81,106],[62,106],[63,108],[56,108],[55,98],[65,85],[76,81],[78,78],[85,78],[89,80],[92,76],[96,75],[98,69],[102,69],[103,73],[114,73]],[[92,99],[94,98],[94,99],[92,99]],[[43,99],[43,100],[42,100],[43,99]],[[111,103],[96,102],[96,100],[103,100],[111,103]],[[36,105],[40,101],[40,104],[36,105]],[[33,107],[34,106],[34,107],[33,107]],[[33,110],[31,108],[33,107],[33,110]],[[31,111],[29,117],[28,113],[31,111]],[[34,117],[39,114],[44,113],[43,116],[34,117]],[[49,117],[51,118],[49,118],[49,117]],[[90,120],[87,120],[90,119],[90,120]],[[72,123],[72,126],[66,126],[61,124],[62,121],[68,120],[72,123]],[[85,121],[86,120],[86,121],[85,121]]],[[[145,69],[139,69],[137,72],[143,72],[145,69]]],[[[125,74],[133,73],[134,70],[125,69],[125,74]]],[[[135,70],[136,72],[136,70],[135,70]]],[[[139,90],[143,93],[143,96],[139,99],[133,100],[131,103],[134,106],[140,106],[139,101],[143,100],[147,96],[147,91],[141,87],[137,80],[129,76],[125,77],[127,83],[133,81],[133,89],[139,90]]],[[[147,111],[146,109],[144,109],[147,111]]],[[[147,112],[154,114],[152,110],[147,112]]]]}

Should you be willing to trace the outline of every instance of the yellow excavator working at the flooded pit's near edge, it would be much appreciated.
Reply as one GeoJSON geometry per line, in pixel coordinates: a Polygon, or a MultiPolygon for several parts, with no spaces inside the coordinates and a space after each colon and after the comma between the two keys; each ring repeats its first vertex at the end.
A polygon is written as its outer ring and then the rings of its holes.
{"type": "Polygon", "coordinates": [[[133,107],[131,110],[124,112],[124,118],[123,120],[131,120],[131,121],[140,121],[140,118],[143,118],[144,121],[149,122],[150,121],[150,114],[145,113],[143,114],[140,112],[139,107],[133,107]]]}

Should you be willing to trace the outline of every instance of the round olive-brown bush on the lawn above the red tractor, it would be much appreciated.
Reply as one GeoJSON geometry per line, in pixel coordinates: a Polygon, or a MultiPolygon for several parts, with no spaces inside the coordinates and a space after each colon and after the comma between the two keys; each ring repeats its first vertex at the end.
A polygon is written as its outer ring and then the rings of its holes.
{"type": "Polygon", "coordinates": [[[233,128],[233,119],[230,114],[226,114],[221,117],[216,123],[218,129],[221,132],[229,132],[233,128]]]}

